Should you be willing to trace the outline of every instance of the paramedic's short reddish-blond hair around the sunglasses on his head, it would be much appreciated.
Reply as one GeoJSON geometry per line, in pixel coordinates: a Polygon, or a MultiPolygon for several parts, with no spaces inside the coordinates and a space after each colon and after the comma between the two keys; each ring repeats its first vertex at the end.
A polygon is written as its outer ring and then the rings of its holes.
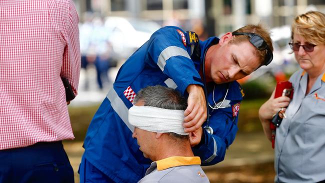
{"type": "MultiPolygon", "coordinates": [[[[270,37],[270,33],[266,28],[262,26],[261,23],[258,23],[257,25],[255,24],[248,24],[246,26],[243,26],[233,32],[250,32],[250,33],[256,33],[259,36],[261,36],[267,43],[268,48],[273,52],[273,44],[272,44],[272,39],[270,37]]],[[[231,40],[230,43],[240,43],[242,41],[249,41],[249,37],[247,35],[242,35],[242,36],[234,36],[231,40]]],[[[257,55],[259,57],[259,60],[261,63],[263,63],[266,50],[257,50],[257,55]]]]}

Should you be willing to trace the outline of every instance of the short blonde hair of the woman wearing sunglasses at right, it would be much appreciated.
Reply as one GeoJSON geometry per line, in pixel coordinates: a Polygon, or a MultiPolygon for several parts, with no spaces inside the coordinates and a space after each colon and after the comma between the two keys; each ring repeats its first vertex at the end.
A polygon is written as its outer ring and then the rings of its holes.
{"type": "Polygon", "coordinates": [[[296,16],[291,25],[291,39],[294,33],[301,35],[311,44],[325,43],[325,14],[308,11],[296,16]]]}

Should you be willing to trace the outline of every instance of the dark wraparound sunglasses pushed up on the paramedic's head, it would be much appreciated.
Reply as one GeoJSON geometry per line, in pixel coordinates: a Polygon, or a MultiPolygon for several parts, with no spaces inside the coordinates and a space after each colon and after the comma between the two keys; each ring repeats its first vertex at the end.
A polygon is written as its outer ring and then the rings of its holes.
{"type": "Polygon", "coordinates": [[[272,61],[273,53],[269,49],[266,41],[260,35],[251,32],[232,32],[232,35],[247,35],[249,37],[249,42],[254,45],[258,50],[266,49],[264,65],[268,65],[272,61]]]}

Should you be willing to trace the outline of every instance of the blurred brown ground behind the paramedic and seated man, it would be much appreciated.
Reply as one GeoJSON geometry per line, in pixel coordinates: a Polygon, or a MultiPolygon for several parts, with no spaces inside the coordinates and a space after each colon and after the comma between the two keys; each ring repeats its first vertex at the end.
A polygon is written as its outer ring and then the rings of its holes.
{"type": "MultiPolygon", "coordinates": [[[[262,132],[239,133],[227,150],[225,159],[216,165],[204,166],[203,169],[211,182],[268,182],[264,176],[272,178],[274,174],[273,149],[270,145],[262,132]],[[264,166],[267,172],[259,172],[264,166]]],[[[79,182],[77,169],[83,152],[81,146],[81,141],[64,142],[74,169],[75,182],[79,182]]]]}

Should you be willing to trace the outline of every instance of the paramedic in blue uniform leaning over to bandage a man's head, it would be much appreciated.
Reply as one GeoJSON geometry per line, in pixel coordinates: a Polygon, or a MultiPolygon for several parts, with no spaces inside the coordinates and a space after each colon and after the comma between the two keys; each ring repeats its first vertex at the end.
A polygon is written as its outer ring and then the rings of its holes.
{"type": "Polygon", "coordinates": [[[261,25],[205,41],[175,26],[154,32],[121,66],[91,120],[80,182],[137,182],[144,176],[151,161],[132,138],[134,126],[127,114],[135,93],[148,85],[168,86],[187,96],[184,130],[196,137],[191,138],[194,155],[202,165],[222,161],[237,131],[243,95],[235,80],[267,65],[272,50],[269,33],[261,25]]]}

